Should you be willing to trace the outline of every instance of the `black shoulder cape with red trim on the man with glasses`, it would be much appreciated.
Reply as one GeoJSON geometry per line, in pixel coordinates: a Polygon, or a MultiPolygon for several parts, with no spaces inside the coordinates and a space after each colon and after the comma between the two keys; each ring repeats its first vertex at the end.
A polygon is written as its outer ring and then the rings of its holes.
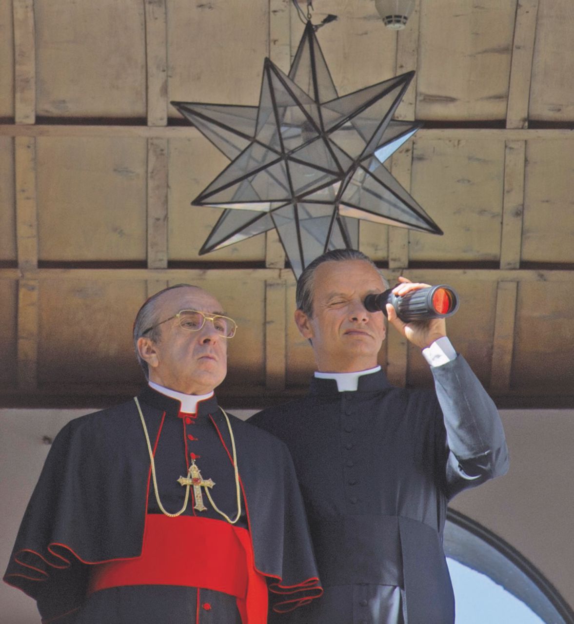
{"type": "MultiPolygon", "coordinates": [[[[180,403],[150,388],[139,401],[153,441],[164,412],[177,417],[180,403]]],[[[215,399],[210,408],[231,450],[215,399]]],[[[229,416],[255,568],[272,592],[289,593],[289,606],[303,604],[321,589],[293,462],[285,444],[229,416]]],[[[153,496],[133,400],[69,422],[52,444],[4,580],[35,598],[43,618],[73,612],[84,601],[90,564],[139,557],[153,496]]]]}

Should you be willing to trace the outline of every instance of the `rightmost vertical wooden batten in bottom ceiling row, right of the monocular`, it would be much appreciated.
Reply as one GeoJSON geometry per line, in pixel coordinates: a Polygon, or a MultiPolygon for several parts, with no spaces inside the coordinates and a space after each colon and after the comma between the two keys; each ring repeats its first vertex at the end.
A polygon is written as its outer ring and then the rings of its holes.
{"type": "Polygon", "coordinates": [[[497,394],[510,389],[517,292],[516,281],[499,281],[490,369],[490,390],[497,394]]]}

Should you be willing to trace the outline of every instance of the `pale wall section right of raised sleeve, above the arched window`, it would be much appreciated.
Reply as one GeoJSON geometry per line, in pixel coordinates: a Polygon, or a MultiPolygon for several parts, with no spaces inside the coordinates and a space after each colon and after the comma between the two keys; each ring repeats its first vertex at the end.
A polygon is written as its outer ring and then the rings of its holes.
{"type": "Polygon", "coordinates": [[[519,550],[574,607],[574,410],[501,413],[508,474],[451,506],[519,550]]]}

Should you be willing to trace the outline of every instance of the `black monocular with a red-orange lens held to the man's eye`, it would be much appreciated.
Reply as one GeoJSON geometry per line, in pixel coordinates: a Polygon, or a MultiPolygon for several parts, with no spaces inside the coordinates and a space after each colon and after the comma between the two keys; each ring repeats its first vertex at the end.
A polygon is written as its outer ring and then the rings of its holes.
{"type": "Polygon", "coordinates": [[[429,286],[396,296],[392,288],[380,295],[367,295],[363,305],[369,312],[379,310],[387,316],[386,305],[390,303],[404,323],[425,321],[430,318],[452,316],[459,309],[459,296],[450,286],[429,286]]]}

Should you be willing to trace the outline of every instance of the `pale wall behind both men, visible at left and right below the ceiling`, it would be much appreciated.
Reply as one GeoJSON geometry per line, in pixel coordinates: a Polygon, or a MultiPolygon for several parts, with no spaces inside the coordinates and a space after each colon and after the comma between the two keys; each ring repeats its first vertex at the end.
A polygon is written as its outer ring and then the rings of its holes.
{"type": "MultiPolygon", "coordinates": [[[[67,421],[92,410],[0,409],[0,572],[49,446],[67,421]]],[[[241,415],[233,410],[234,414],[241,415]]],[[[245,416],[245,414],[243,414],[245,416]]],[[[452,507],[520,550],[574,605],[574,410],[503,411],[511,467],[452,507]]],[[[0,583],[0,622],[39,622],[35,603],[0,583]]]]}

